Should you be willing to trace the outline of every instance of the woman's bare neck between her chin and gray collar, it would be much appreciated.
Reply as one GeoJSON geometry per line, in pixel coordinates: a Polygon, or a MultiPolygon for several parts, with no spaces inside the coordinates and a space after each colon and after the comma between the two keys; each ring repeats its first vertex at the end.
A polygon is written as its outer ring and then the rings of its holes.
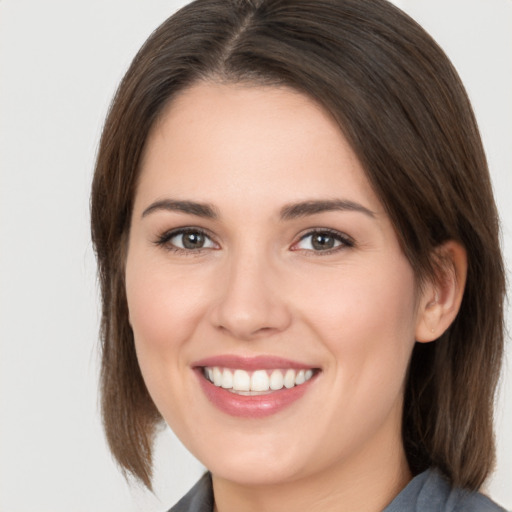
{"type": "Polygon", "coordinates": [[[369,455],[375,452],[367,446],[350,461],[275,484],[238,484],[213,475],[215,512],[380,512],[411,479],[402,442],[397,441],[377,457],[369,455]]]}

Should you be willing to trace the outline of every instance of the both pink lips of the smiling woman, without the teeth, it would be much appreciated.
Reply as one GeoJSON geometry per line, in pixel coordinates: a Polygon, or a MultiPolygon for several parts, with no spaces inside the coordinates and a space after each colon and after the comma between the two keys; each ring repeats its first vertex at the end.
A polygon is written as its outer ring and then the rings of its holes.
{"type": "Polygon", "coordinates": [[[202,390],[210,402],[221,411],[231,415],[244,418],[264,418],[271,416],[294,402],[299,400],[310,389],[316,380],[314,375],[310,380],[287,389],[283,388],[265,395],[238,395],[221,387],[217,387],[207,380],[203,375],[203,367],[218,366],[221,368],[240,368],[246,371],[270,370],[270,369],[306,369],[311,366],[297,363],[288,359],[278,357],[239,357],[232,355],[215,356],[202,359],[193,364],[195,373],[199,379],[202,390]]]}

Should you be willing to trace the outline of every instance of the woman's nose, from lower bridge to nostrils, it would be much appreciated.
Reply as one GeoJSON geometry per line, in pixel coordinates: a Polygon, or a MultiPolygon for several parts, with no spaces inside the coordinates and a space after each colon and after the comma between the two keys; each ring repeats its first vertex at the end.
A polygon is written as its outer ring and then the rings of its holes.
{"type": "Polygon", "coordinates": [[[284,331],[291,313],[280,276],[268,261],[254,254],[227,263],[219,299],[212,311],[215,328],[239,340],[252,340],[284,331]]]}

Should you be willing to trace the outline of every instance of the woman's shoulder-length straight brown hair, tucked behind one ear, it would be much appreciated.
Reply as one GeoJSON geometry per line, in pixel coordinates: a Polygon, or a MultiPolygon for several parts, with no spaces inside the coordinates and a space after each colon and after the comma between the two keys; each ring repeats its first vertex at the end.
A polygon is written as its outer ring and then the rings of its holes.
{"type": "Polygon", "coordinates": [[[101,283],[102,411],[121,467],[151,485],[155,427],[128,322],[126,239],[141,154],[165,105],[199,80],[287,85],[338,121],[420,282],[434,249],[468,251],[460,312],[416,344],[403,440],[414,473],[438,467],[478,488],[494,461],[493,399],[503,351],[504,270],[478,128],[448,58],[385,0],[197,0],[146,41],[121,82],[92,186],[101,283]]]}

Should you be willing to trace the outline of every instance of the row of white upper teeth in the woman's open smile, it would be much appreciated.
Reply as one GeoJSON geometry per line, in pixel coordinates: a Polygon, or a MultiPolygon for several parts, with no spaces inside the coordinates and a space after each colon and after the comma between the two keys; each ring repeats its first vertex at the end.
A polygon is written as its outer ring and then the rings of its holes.
{"type": "Polygon", "coordinates": [[[233,392],[247,394],[248,392],[270,392],[291,389],[300,386],[313,377],[313,370],[256,370],[250,374],[245,370],[230,370],[217,366],[205,367],[204,376],[215,386],[229,389],[233,392]]]}

